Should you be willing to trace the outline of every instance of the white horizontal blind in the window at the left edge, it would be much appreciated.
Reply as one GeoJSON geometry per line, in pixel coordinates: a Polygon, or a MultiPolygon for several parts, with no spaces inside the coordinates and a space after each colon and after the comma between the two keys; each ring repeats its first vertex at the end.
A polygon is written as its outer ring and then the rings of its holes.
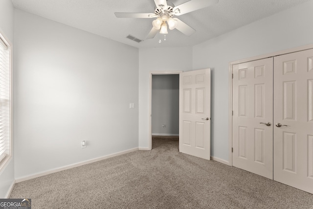
{"type": "Polygon", "coordinates": [[[0,38],[0,164],[10,156],[10,48],[0,38]]]}

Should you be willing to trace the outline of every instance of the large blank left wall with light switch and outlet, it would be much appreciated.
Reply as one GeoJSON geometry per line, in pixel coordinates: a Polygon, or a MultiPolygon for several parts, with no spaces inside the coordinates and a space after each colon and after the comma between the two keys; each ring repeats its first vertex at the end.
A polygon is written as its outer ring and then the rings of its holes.
{"type": "Polygon", "coordinates": [[[15,41],[17,179],[138,147],[137,48],[21,10],[15,41]]]}

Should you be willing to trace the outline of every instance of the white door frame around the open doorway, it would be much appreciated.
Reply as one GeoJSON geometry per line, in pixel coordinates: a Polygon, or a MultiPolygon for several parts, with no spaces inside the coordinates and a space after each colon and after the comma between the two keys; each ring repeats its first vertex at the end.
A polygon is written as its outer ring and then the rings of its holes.
{"type": "MultiPolygon", "coordinates": [[[[152,75],[179,75],[182,73],[182,70],[172,70],[172,71],[150,71],[149,78],[150,78],[150,85],[149,85],[149,147],[148,150],[152,149],[152,124],[151,124],[151,116],[152,116],[152,75]]],[[[179,108],[179,107],[178,107],[179,108]]]]}

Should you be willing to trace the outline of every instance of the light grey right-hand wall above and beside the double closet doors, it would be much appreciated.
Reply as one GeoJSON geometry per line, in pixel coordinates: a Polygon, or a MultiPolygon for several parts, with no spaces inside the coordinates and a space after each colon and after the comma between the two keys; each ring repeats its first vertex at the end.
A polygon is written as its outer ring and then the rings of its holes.
{"type": "Polygon", "coordinates": [[[193,69],[212,69],[211,155],[228,161],[228,64],[313,43],[313,0],[193,47],[193,69]]]}

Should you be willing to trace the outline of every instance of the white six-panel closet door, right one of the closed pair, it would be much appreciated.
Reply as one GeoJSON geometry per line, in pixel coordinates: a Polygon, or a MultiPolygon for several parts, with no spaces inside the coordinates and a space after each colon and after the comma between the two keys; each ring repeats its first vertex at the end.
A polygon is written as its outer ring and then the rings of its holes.
{"type": "Polygon", "coordinates": [[[313,193],[313,49],[274,58],[274,180],[313,193]]]}

